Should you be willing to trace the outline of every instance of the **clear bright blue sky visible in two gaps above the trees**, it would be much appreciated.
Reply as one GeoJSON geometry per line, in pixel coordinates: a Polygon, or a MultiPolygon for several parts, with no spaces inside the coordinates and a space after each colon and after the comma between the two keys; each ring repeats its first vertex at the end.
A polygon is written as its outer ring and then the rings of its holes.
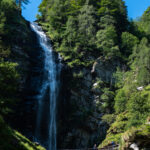
{"type": "MultiPolygon", "coordinates": [[[[30,3],[25,6],[22,15],[29,21],[36,20],[38,6],[42,0],[30,0],[30,3]]],[[[136,19],[150,6],[150,0],[124,0],[128,8],[129,18],[136,19]]]]}

